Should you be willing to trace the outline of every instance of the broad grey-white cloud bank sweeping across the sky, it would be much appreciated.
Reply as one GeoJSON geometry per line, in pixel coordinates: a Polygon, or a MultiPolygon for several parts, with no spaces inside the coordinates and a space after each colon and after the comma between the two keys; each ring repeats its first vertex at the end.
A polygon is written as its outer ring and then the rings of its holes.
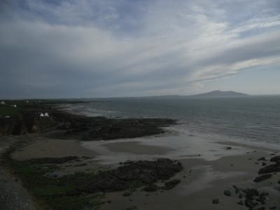
{"type": "MultiPolygon", "coordinates": [[[[85,7],[87,4],[82,4],[88,1],[66,6],[72,15],[59,13],[63,5],[56,10],[45,3],[29,3],[48,13],[52,8],[53,13],[67,19],[79,13],[79,6],[85,7]]],[[[111,5],[110,1],[106,3],[111,5]]],[[[214,4],[211,16],[202,7],[204,1],[186,8],[186,13],[184,3],[168,5],[171,1],[160,9],[158,3],[149,4],[153,13],[144,14],[141,36],[131,31],[120,36],[111,27],[95,25],[94,20],[92,25],[69,25],[34,19],[34,14],[26,19],[18,15],[11,20],[1,17],[0,97],[110,97],[163,91],[176,94],[179,89],[195,90],[192,88],[201,86],[197,83],[232,76],[251,67],[252,59],[267,65],[279,62],[272,59],[280,57],[277,24],[240,36],[251,29],[250,22],[245,21],[241,30],[231,27],[227,18],[223,19],[227,15],[225,8],[214,4]],[[177,8],[186,15],[180,22],[173,16],[177,8]],[[217,14],[223,14],[223,20],[217,21],[217,14]],[[169,22],[162,21],[163,15],[169,22]]],[[[255,27],[267,20],[271,19],[256,18],[255,27]]]]}

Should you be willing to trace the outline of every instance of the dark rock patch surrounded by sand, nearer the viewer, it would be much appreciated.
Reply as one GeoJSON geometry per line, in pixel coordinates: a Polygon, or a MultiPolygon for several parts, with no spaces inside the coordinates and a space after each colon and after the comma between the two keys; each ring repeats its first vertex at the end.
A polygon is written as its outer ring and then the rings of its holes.
{"type": "MultiPolygon", "coordinates": [[[[96,193],[98,191],[113,192],[146,186],[146,190],[151,191],[153,190],[152,187],[156,188],[153,186],[155,182],[168,180],[182,169],[180,162],[169,159],[127,162],[117,169],[99,172],[92,176],[92,179],[85,185],[80,185],[78,190],[86,193],[96,193]]],[[[166,182],[165,190],[176,186],[178,183],[179,181],[166,182]]]]}

